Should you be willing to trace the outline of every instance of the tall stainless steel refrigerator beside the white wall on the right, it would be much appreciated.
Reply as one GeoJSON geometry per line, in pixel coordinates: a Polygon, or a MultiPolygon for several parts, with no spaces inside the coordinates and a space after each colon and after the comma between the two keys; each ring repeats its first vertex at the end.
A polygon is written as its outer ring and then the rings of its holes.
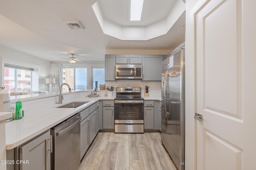
{"type": "Polygon", "coordinates": [[[185,158],[185,50],[162,62],[161,140],[179,170],[185,158]]]}

